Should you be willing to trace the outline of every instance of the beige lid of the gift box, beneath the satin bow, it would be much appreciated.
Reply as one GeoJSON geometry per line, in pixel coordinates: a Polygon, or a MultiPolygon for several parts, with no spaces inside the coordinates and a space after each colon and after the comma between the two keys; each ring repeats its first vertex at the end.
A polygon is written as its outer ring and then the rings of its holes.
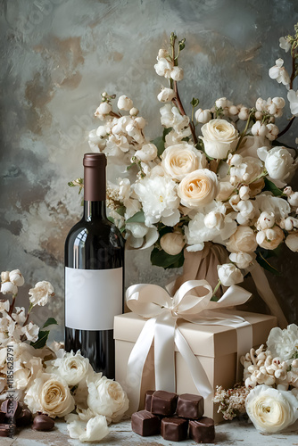
{"type": "MultiPolygon", "coordinates": [[[[225,312],[241,316],[252,324],[252,345],[255,347],[266,343],[269,331],[277,326],[275,316],[240,310],[225,310],[225,312]]],[[[145,325],[145,320],[132,312],[116,316],[114,318],[114,339],[136,343],[137,337],[145,325]]],[[[214,358],[234,353],[237,350],[236,328],[192,324],[183,319],[178,320],[178,327],[195,355],[214,358]]],[[[241,329],[241,327],[238,328],[238,330],[241,329]]],[[[176,347],[175,350],[177,351],[176,347]]]]}

